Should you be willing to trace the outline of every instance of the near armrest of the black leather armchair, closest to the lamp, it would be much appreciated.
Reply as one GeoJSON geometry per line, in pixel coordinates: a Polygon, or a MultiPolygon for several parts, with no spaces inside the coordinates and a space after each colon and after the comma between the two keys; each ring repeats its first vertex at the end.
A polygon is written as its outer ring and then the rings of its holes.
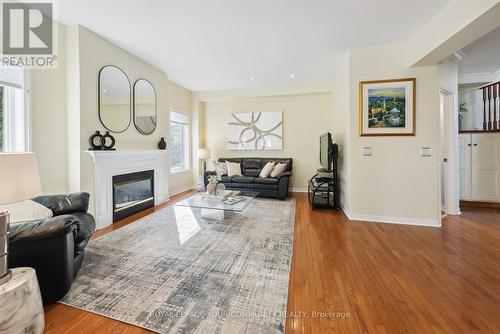
{"type": "Polygon", "coordinates": [[[10,224],[9,244],[29,243],[72,233],[76,237],[77,218],[66,215],[39,221],[10,224]]]}

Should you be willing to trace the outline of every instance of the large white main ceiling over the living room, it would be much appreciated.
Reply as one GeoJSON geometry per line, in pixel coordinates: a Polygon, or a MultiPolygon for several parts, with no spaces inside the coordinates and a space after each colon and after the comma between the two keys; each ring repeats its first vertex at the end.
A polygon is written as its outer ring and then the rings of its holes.
{"type": "Polygon", "coordinates": [[[446,2],[59,0],[57,5],[63,23],[81,24],[200,91],[332,80],[344,50],[410,39],[446,2]]]}

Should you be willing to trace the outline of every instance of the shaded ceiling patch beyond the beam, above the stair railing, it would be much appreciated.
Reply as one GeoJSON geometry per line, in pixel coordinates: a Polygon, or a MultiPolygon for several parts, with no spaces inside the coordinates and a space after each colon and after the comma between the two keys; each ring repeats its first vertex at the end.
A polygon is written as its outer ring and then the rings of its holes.
{"type": "Polygon", "coordinates": [[[465,57],[459,63],[460,73],[495,72],[500,69],[500,28],[462,49],[465,57]]]}

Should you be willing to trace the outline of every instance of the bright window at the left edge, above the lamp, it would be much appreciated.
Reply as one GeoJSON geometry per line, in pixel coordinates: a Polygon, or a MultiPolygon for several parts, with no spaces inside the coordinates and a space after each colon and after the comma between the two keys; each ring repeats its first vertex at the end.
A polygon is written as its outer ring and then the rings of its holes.
{"type": "Polygon", "coordinates": [[[0,151],[30,150],[27,76],[21,67],[0,66],[0,151]]]}

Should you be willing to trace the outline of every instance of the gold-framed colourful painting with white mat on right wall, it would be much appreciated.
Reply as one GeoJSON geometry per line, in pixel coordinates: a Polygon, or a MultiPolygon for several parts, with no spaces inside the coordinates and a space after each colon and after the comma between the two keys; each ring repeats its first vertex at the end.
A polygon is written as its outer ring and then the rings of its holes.
{"type": "Polygon", "coordinates": [[[360,136],[415,135],[416,79],[359,82],[360,136]]]}

